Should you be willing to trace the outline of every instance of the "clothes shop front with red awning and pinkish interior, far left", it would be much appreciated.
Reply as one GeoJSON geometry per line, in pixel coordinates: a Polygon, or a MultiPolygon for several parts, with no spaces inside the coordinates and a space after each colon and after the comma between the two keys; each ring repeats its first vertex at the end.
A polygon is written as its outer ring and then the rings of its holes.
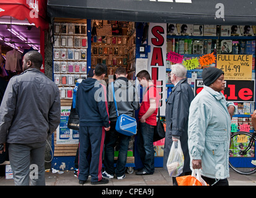
{"type": "MultiPolygon", "coordinates": [[[[1,100],[7,82],[22,72],[22,58],[27,51],[45,54],[46,1],[9,0],[0,2],[0,78],[1,100]]],[[[45,62],[40,71],[45,72],[45,62]]],[[[11,169],[7,152],[1,155],[0,165],[11,169]]],[[[5,167],[0,166],[1,176],[5,167]]]]}

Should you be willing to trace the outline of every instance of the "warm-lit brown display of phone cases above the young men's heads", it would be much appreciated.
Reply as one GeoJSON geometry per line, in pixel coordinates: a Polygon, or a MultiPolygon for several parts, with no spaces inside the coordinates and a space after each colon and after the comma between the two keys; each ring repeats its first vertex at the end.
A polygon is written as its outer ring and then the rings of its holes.
{"type": "MultiPolygon", "coordinates": [[[[104,63],[108,75],[125,67],[128,79],[135,79],[135,22],[94,20],[92,23],[91,65],[104,63]]],[[[108,75],[105,78],[108,81],[108,75]]]]}

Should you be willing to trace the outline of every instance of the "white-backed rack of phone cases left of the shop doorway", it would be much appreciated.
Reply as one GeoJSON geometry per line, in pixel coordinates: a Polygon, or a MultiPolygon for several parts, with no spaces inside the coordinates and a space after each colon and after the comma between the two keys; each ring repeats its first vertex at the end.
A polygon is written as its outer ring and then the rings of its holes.
{"type": "Polygon", "coordinates": [[[87,78],[87,24],[54,24],[53,75],[61,99],[73,98],[77,79],[87,78]]]}

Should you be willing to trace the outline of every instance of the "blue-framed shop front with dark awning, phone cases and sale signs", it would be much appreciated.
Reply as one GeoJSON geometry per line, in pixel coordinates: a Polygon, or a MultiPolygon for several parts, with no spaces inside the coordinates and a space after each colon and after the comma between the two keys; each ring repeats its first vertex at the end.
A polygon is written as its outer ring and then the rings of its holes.
{"type": "MultiPolygon", "coordinates": [[[[54,21],[53,80],[60,88],[62,106],[61,124],[53,137],[52,167],[74,167],[79,133],[66,126],[72,90],[76,79],[85,79],[99,62],[108,67],[107,82],[117,67],[125,67],[130,80],[140,70],[148,70],[161,94],[159,115],[164,123],[166,99],[174,87],[169,80],[172,64],[181,62],[187,67],[195,94],[200,91],[203,67],[223,69],[226,98],[238,110],[232,119],[233,132],[245,125],[252,131],[255,7],[251,1],[49,0],[48,15],[54,21]],[[245,83],[247,87],[242,87],[245,83]]],[[[154,142],[155,166],[162,167],[163,147],[164,139],[154,142]]],[[[230,153],[238,153],[237,149],[234,142],[230,153]]],[[[139,168],[136,147],[131,146],[128,159],[130,166],[139,168]]]]}

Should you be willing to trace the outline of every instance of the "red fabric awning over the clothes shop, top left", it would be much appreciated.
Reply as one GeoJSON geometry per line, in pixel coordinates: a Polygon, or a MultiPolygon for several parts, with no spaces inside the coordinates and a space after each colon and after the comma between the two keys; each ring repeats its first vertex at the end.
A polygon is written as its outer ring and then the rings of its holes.
{"type": "Polygon", "coordinates": [[[0,17],[11,16],[18,20],[27,19],[30,24],[45,30],[49,27],[46,20],[47,0],[1,0],[0,17]]]}

